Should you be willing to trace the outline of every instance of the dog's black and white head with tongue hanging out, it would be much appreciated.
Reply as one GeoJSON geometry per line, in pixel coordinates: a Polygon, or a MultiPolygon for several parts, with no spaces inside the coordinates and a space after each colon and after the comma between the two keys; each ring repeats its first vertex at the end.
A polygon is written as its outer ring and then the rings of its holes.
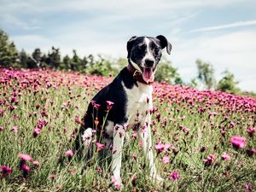
{"type": "Polygon", "coordinates": [[[154,81],[154,73],[161,58],[161,50],[171,53],[172,45],[167,39],[159,35],[152,37],[132,37],[127,42],[127,58],[131,65],[143,75],[145,82],[154,81]]]}

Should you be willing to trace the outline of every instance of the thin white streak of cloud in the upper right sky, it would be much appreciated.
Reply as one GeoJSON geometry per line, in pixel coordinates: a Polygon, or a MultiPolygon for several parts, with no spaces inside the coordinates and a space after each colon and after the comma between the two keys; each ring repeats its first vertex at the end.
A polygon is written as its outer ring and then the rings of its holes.
{"type": "Polygon", "coordinates": [[[207,26],[201,27],[197,29],[193,29],[189,32],[208,32],[208,31],[216,31],[219,29],[226,29],[231,27],[238,27],[238,26],[255,26],[256,20],[241,20],[230,24],[220,25],[220,26],[207,26]]]}

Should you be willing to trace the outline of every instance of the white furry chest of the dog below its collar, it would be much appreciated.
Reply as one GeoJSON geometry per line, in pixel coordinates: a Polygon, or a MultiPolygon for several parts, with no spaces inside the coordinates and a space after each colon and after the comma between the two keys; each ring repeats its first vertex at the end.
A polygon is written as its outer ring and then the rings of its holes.
{"type": "Polygon", "coordinates": [[[127,96],[126,117],[129,127],[131,125],[144,121],[148,109],[153,107],[152,103],[152,85],[144,85],[138,83],[131,90],[125,89],[127,96]]]}

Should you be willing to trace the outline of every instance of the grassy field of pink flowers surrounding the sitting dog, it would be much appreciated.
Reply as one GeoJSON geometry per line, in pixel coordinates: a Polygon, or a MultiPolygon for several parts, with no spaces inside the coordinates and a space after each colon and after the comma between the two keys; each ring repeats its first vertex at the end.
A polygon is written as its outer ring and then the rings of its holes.
{"type": "MultiPolygon", "coordinates": [[[[113,191],[104,148],[87,161],[73,151],[90,99],[111,80],[0,69],[0,191],[113,191]]],[[[166,181],[148,178],[131,130],[121,191],[255,189],[255,98],[155,83],[151,113],[154,156],[166,181]]]]}

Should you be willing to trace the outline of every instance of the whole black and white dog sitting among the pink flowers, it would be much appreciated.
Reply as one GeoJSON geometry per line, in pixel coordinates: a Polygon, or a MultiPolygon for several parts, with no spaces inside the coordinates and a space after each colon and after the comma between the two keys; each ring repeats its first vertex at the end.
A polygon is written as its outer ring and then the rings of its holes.
{"type": "Polygon", "coordinates": [[[132,37],[127,43],[128,66],[122,69],[111,84],[94,96],[84,115],[84,125],[81,126],[76,139],[77,150],[79,151],[82,144],[83,151],[87,155],[90,154],[92,137],[95,132],[100,133],[105,140],[105,148],[112,150],[111,171],[119,184],[125,132],[134,126],[137,126],[138,135],[143,143],[150,176],[162,181],[154,165],[149,110],[153,108],[154,73],[162,55],[161,49],[165,48],[170,54],[172,45],[162,35],[156,38],[132,37]],[[113,102],[109,111],[107,101],[113,102]],[[108,117],[102,127],[107,112],[108,117]]]}

